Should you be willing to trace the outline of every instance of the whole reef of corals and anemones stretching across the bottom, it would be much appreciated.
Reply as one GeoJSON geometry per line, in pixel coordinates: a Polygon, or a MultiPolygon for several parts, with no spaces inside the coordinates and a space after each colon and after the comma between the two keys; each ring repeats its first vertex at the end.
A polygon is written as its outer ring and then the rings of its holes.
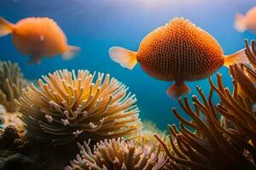
{"type": "Polygon", "coordinates": [[[208,97],[197,87],[199,95],[192,96],[192,103],[178,99],[191,120],[172,109],[180,126],[169,126],[170,136],[154,122],[142,123],[135,95],[109,75],[55,71],[21,92],[26,80],[19,67],[2,62],[0,169],[61,169],[77,152],[74,144],[61,144],[75,140],[88,142],[78,143],[79,154],[66,170],[256,169],[254,41],[251,47],[246,41],[245,52],[251,65],[230,65],[232,92],[218,74],[216,83],[209,78],[208,97]],[[20,76],[9,81],[15,74],[20,76]],[[46,142],[38,147],[35,139],[46,142]]]}

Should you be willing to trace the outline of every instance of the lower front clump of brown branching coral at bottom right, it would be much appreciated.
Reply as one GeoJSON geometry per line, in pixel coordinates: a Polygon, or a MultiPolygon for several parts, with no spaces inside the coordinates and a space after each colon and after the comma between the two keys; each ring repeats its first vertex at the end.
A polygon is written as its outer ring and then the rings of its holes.
{"type": "Polygon", "coordinates": [[[255,148],[241,139],[236,132],[225,129],[218,121],[218,111],[212,103],[212,90],[207,99],[200,88],[197,88],[201,99],[193,96],[193,106],[189,105],[187,98],[179,99],[183,111],[189,115],[193,122],[185,120],[176,109],[172,112],[181,122],[181,129],[175,125],[170,126],[170,132],[177,141],[174,144],[171,137],[172,150],[167,149],[166,144],[159,139],[166,148],[167,155],[175,161],[170,169],[190,167],[191,169],[254,169],[254,161],[247,158],[245,152],[249,151],[254,155],[255,148]],[[192,128],[194,130],[189,130],[192,128]],[[236,141],[236,143],[235,143],[236,141]]]}

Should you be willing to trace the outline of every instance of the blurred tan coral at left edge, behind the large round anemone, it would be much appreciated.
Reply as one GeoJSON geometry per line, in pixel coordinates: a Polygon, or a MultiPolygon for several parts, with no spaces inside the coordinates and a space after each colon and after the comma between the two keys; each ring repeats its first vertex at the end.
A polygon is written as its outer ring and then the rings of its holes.
{"type": "Polygon", "coordinates": [[[21,89],[26,85],[17,63],[0,61],[0,104],[8,112],[16,111],[15,99],[19,99],[21,89]]]}

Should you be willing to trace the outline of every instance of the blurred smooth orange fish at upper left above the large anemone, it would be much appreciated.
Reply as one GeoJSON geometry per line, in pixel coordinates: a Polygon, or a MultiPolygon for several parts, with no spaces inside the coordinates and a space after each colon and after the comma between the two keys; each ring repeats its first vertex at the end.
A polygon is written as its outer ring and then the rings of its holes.
{"type": "Polygon", "coordinates": [[[57,54],[61,54],[62,59],[72,59],[79,52],[79,47],[67,44],[61,28],[49,18],[26,18],[12,24],[0,17],[0,37],[8,34],[12,34],[12,41],[20,53],[30,55],[29,63],[32,64],[57,54]]]}

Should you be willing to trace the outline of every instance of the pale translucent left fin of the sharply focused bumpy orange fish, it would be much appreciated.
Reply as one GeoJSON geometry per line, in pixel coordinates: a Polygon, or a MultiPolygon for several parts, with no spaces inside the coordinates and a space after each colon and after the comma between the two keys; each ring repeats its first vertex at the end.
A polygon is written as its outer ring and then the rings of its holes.
{"type": "Polygon", "coordinates": [[[130,70],[137,64],[137,52],[125,48],[109,48],[109,55],[114,62],[130,70]]]}

